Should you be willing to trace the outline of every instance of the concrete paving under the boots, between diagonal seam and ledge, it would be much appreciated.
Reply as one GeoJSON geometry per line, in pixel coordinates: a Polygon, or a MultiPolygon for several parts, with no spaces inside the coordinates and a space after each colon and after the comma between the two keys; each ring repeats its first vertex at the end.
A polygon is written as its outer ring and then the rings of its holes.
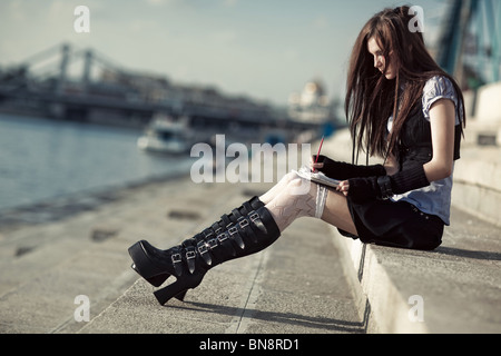
{"type": "Polygon", "coordinates": [[[207,273],[185,301],[160,306],[139,278],[80,333],[364,333],[328,226],[296,220],[269,248],[207,273]]]}

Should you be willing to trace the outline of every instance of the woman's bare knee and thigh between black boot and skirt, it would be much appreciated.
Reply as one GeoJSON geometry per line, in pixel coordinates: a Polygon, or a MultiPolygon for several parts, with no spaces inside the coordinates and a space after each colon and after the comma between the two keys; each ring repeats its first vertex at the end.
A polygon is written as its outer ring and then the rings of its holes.
{"type": "Polygon", "coordinates": [[[281,231],[299,217],[317,217],[345,231],[356,235],[347,208],[346,197],[307,181],[294,172],[287,174],[259,199],[269,210],[281,231]]]}

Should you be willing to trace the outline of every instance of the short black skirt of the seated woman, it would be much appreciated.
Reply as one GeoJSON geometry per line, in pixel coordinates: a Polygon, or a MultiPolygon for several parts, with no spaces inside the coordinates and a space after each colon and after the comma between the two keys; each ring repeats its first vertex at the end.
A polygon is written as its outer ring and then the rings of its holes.
{"type": "Polygon", "coordinates": [[[358,236],[340,229],[346,237],[365,244],[431,250],[442,244],[444,222],[406,201],[369,200],[347,205],[358,236]]]}

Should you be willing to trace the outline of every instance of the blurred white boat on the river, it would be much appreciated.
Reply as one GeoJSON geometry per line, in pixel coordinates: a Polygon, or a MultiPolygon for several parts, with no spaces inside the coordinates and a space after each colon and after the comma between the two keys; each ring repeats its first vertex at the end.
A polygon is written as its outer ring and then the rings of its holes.
{"type": "Polygon", "coordinates": [[[185,121],[174,121],[167,117],[155,118],[139,137],[139,149],[160,154],[184,154],[190,149],[188,128],[185,121]]]}

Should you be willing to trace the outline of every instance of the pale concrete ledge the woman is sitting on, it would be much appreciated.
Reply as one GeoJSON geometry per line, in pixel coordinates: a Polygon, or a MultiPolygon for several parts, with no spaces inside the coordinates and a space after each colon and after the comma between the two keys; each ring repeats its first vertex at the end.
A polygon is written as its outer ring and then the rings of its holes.
{"type": "Polygon", "coordinates": [[[434,251],[364,245],[332,228],[367,333],[501,332],[499,228],[454,216],[434,251]]]}

